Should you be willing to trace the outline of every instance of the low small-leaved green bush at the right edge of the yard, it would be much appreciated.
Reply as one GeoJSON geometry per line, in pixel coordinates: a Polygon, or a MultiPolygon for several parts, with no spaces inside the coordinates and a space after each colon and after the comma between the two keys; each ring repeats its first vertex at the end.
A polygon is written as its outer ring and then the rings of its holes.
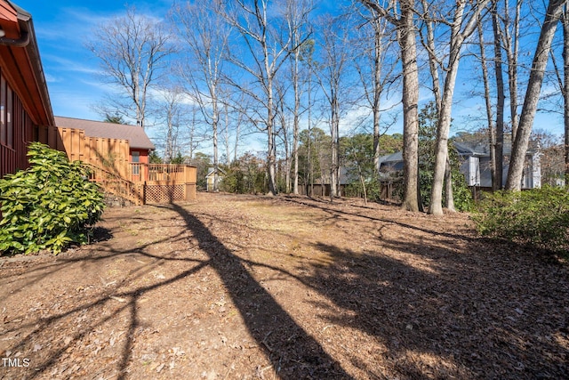
{"type": "Polygon", "coordinates": [[[569,192],[544,187],[497,191],[486,196],[474,216],[478,231],[493,238],[569,252],[569,192]]]}

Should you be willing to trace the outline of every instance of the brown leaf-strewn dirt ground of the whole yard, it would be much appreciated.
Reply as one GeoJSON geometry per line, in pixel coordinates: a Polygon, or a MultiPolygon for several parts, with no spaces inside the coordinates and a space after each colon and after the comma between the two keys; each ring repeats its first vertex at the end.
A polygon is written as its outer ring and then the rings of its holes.
{"type": "Polygon", "coordinates": [[[567,264],[465,214],[198,194],[0,258],[4,379],[569,378],[567,264]]]}

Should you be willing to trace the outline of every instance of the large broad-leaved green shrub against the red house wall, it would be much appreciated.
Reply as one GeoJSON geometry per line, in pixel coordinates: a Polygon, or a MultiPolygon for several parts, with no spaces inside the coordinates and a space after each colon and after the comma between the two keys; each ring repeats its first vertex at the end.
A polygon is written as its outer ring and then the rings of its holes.
{"type": "Polygon", "coordinates": [[[87,243],[104,208],[88,169],[39,142],[29,145],[28,157],[27,170],[0,180],[0,252],[58,254],[69,243],[87,243]]]}

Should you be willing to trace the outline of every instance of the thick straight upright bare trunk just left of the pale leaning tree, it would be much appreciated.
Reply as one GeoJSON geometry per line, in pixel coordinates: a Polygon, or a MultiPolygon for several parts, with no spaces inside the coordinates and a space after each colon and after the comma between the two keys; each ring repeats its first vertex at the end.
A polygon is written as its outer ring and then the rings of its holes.
{"type": "Polygon", "coordinates": [[[383,6],[381,0],[360,0],[362,4],[389,20],[397,28],[397,42],[401,48],[403,66],[403,159],[405,193],[402,207],[419,211],[419,69],[417,67],[417,41],[415,2],[399,0],[399,14],[394,7],[383,6]]]}

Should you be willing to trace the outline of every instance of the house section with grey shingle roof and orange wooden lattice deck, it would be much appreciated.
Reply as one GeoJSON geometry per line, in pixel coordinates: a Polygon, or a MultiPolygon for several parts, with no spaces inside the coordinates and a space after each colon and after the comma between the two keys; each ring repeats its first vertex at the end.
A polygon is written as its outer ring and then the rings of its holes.
{"type": "Polygon", "coordinates": [[[92,167],[92,181],[134,204],[196,198],[196,167],[150,164],[154,144],[140,126],[55,117],[57,149],[92,167]]]}

